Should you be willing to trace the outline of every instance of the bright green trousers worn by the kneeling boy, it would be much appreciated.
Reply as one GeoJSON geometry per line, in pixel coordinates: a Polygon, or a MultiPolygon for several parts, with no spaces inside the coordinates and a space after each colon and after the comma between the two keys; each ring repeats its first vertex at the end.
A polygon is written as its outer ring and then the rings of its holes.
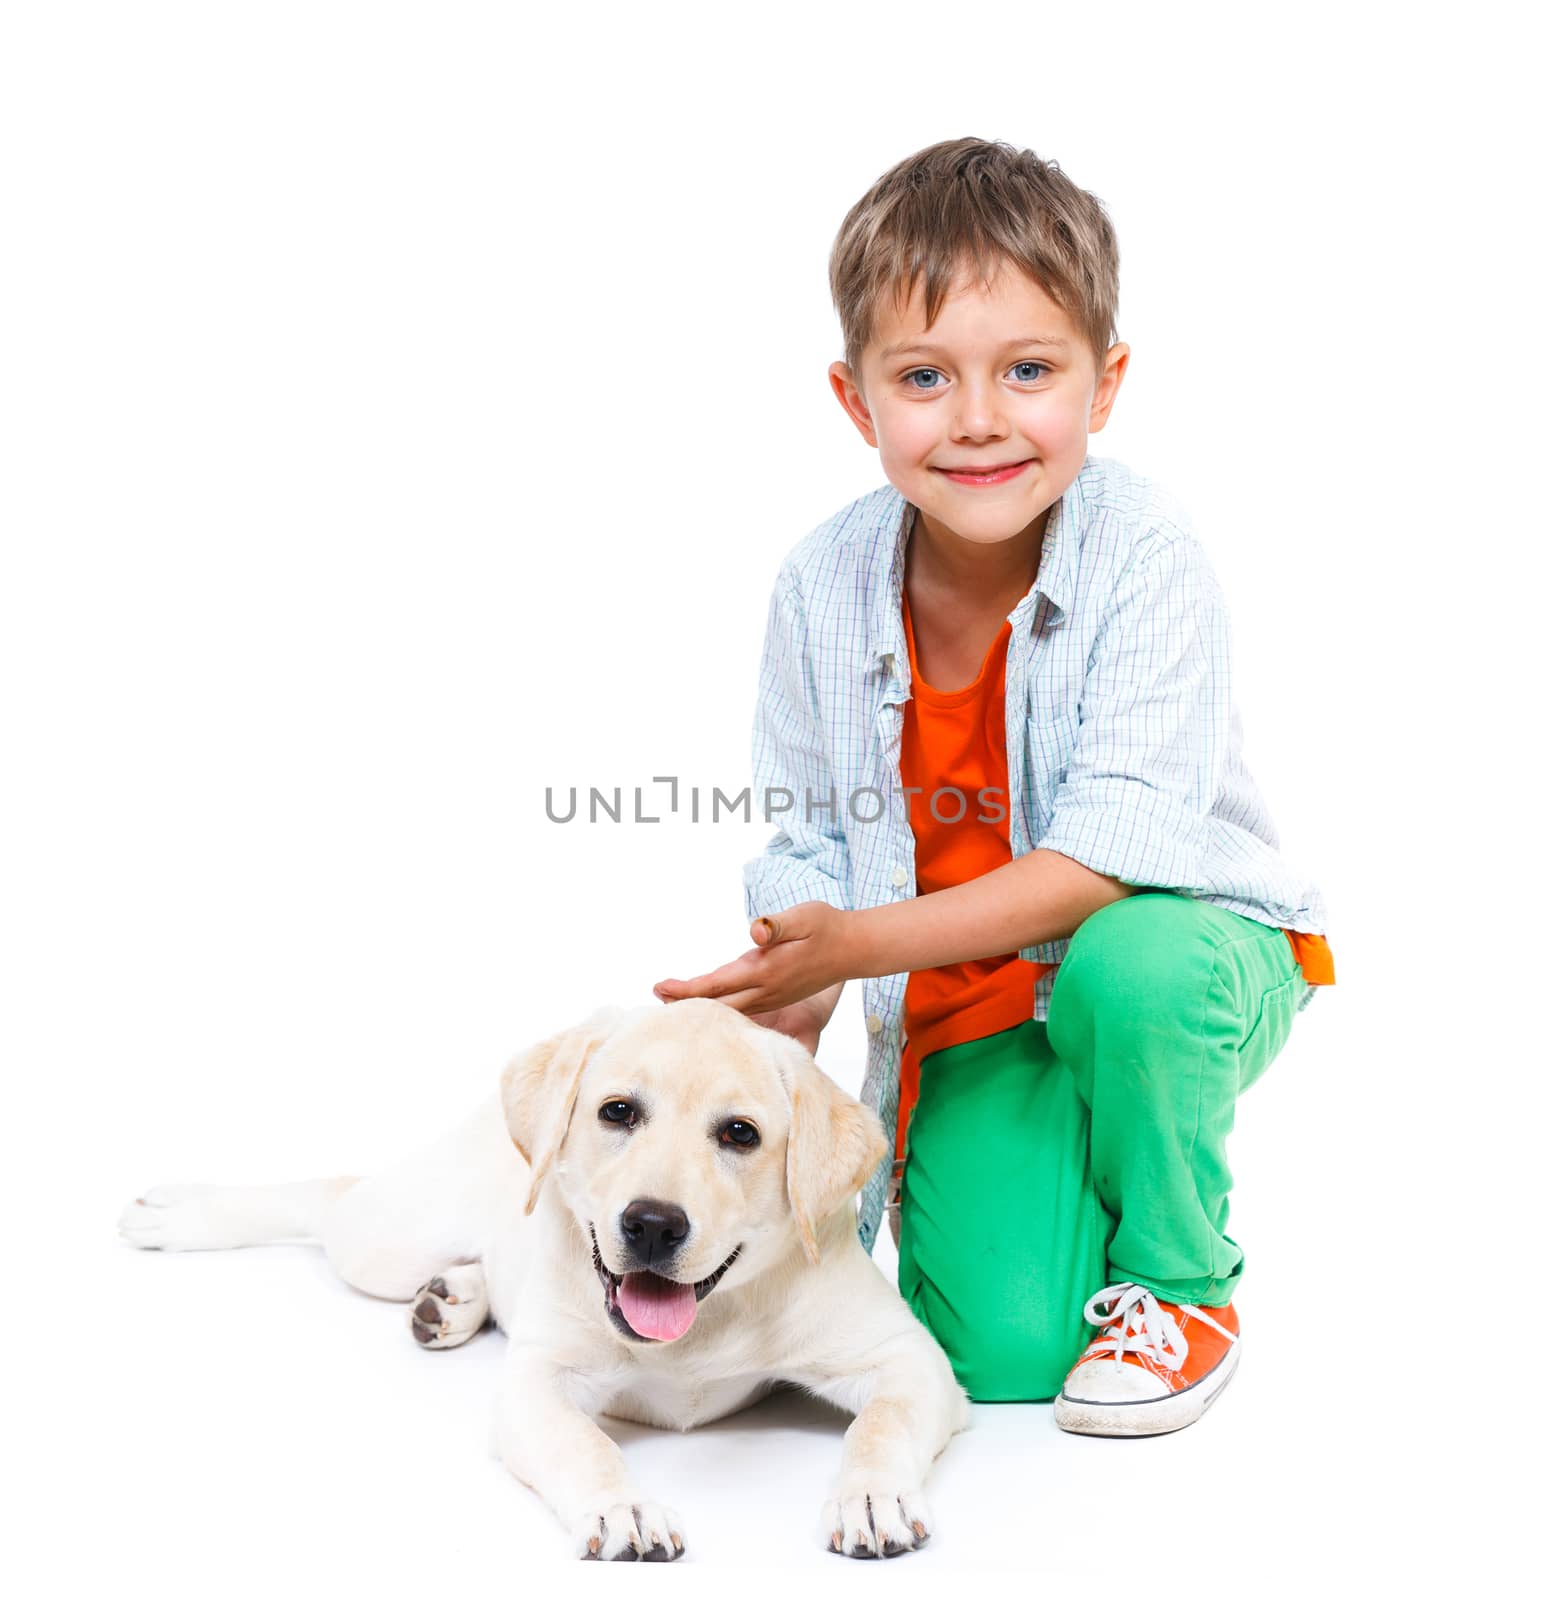
{"type": "Polygon", "coordinates": [[[1139,893],[1072,936],[1045,1022],[923,1058],[899,1285],[973,1400],[1054,1397],[1110,1283],[1232,1299],[1234,1102],[1304,990],[1278,928],[1139,893]]]}

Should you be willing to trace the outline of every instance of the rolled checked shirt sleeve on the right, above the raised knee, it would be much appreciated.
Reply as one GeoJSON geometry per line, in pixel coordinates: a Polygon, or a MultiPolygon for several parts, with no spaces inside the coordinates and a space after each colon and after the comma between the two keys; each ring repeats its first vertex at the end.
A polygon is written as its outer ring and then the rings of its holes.
{"type": "Polygon", "coordinates": [[[1138,888],[1203,888],[1232,723],[1232,637],[1205,550],[1133,557],[1090,656],[1077,744],[1037,848],[1138,888]]]}

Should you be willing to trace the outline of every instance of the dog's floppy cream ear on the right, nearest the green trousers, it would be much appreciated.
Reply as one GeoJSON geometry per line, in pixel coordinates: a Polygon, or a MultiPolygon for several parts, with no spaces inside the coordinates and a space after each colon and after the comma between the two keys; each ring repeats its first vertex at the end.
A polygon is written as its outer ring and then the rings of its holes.
{"type": "Polygon", "coordinates": [[[814,1230],[850,1200],[890,1154],[878,1117],[838,1088],[814,1056],[784,1034],[779,1066],[789,1091],[789,1208],[810,1266],[821,1259],[814,1230]]]}

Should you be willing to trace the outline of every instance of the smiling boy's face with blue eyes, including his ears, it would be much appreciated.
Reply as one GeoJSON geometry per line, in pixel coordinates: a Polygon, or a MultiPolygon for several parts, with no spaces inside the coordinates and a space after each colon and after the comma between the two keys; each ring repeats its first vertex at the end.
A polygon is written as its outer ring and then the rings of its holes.
{"type": "Polygon", "coordinates": [[[862,373],[834,362],[832,389],[931,539],[1038,549],[1088,435],[1110,414],[1130,347],[1096,363],[1067,314],[1006,261],[986,288],[962,274],[931,328],[922,299],[918,282],[902,309],[886,306],[862,373]],[[1006,477],[966,475],[1019,464],[1006,477]]]}

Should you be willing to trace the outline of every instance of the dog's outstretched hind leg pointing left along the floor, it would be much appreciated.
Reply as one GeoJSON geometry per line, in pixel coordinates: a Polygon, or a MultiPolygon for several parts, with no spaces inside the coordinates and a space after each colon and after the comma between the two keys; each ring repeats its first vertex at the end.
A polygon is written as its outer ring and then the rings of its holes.
{"type": "Polygon", "coordinates": [[[234,1250],[322,1240],[333,1202],[358,1178],[298,1184],[163,1184],[131,1200],[118,1235],[141,1250],[234,1250]]]}

